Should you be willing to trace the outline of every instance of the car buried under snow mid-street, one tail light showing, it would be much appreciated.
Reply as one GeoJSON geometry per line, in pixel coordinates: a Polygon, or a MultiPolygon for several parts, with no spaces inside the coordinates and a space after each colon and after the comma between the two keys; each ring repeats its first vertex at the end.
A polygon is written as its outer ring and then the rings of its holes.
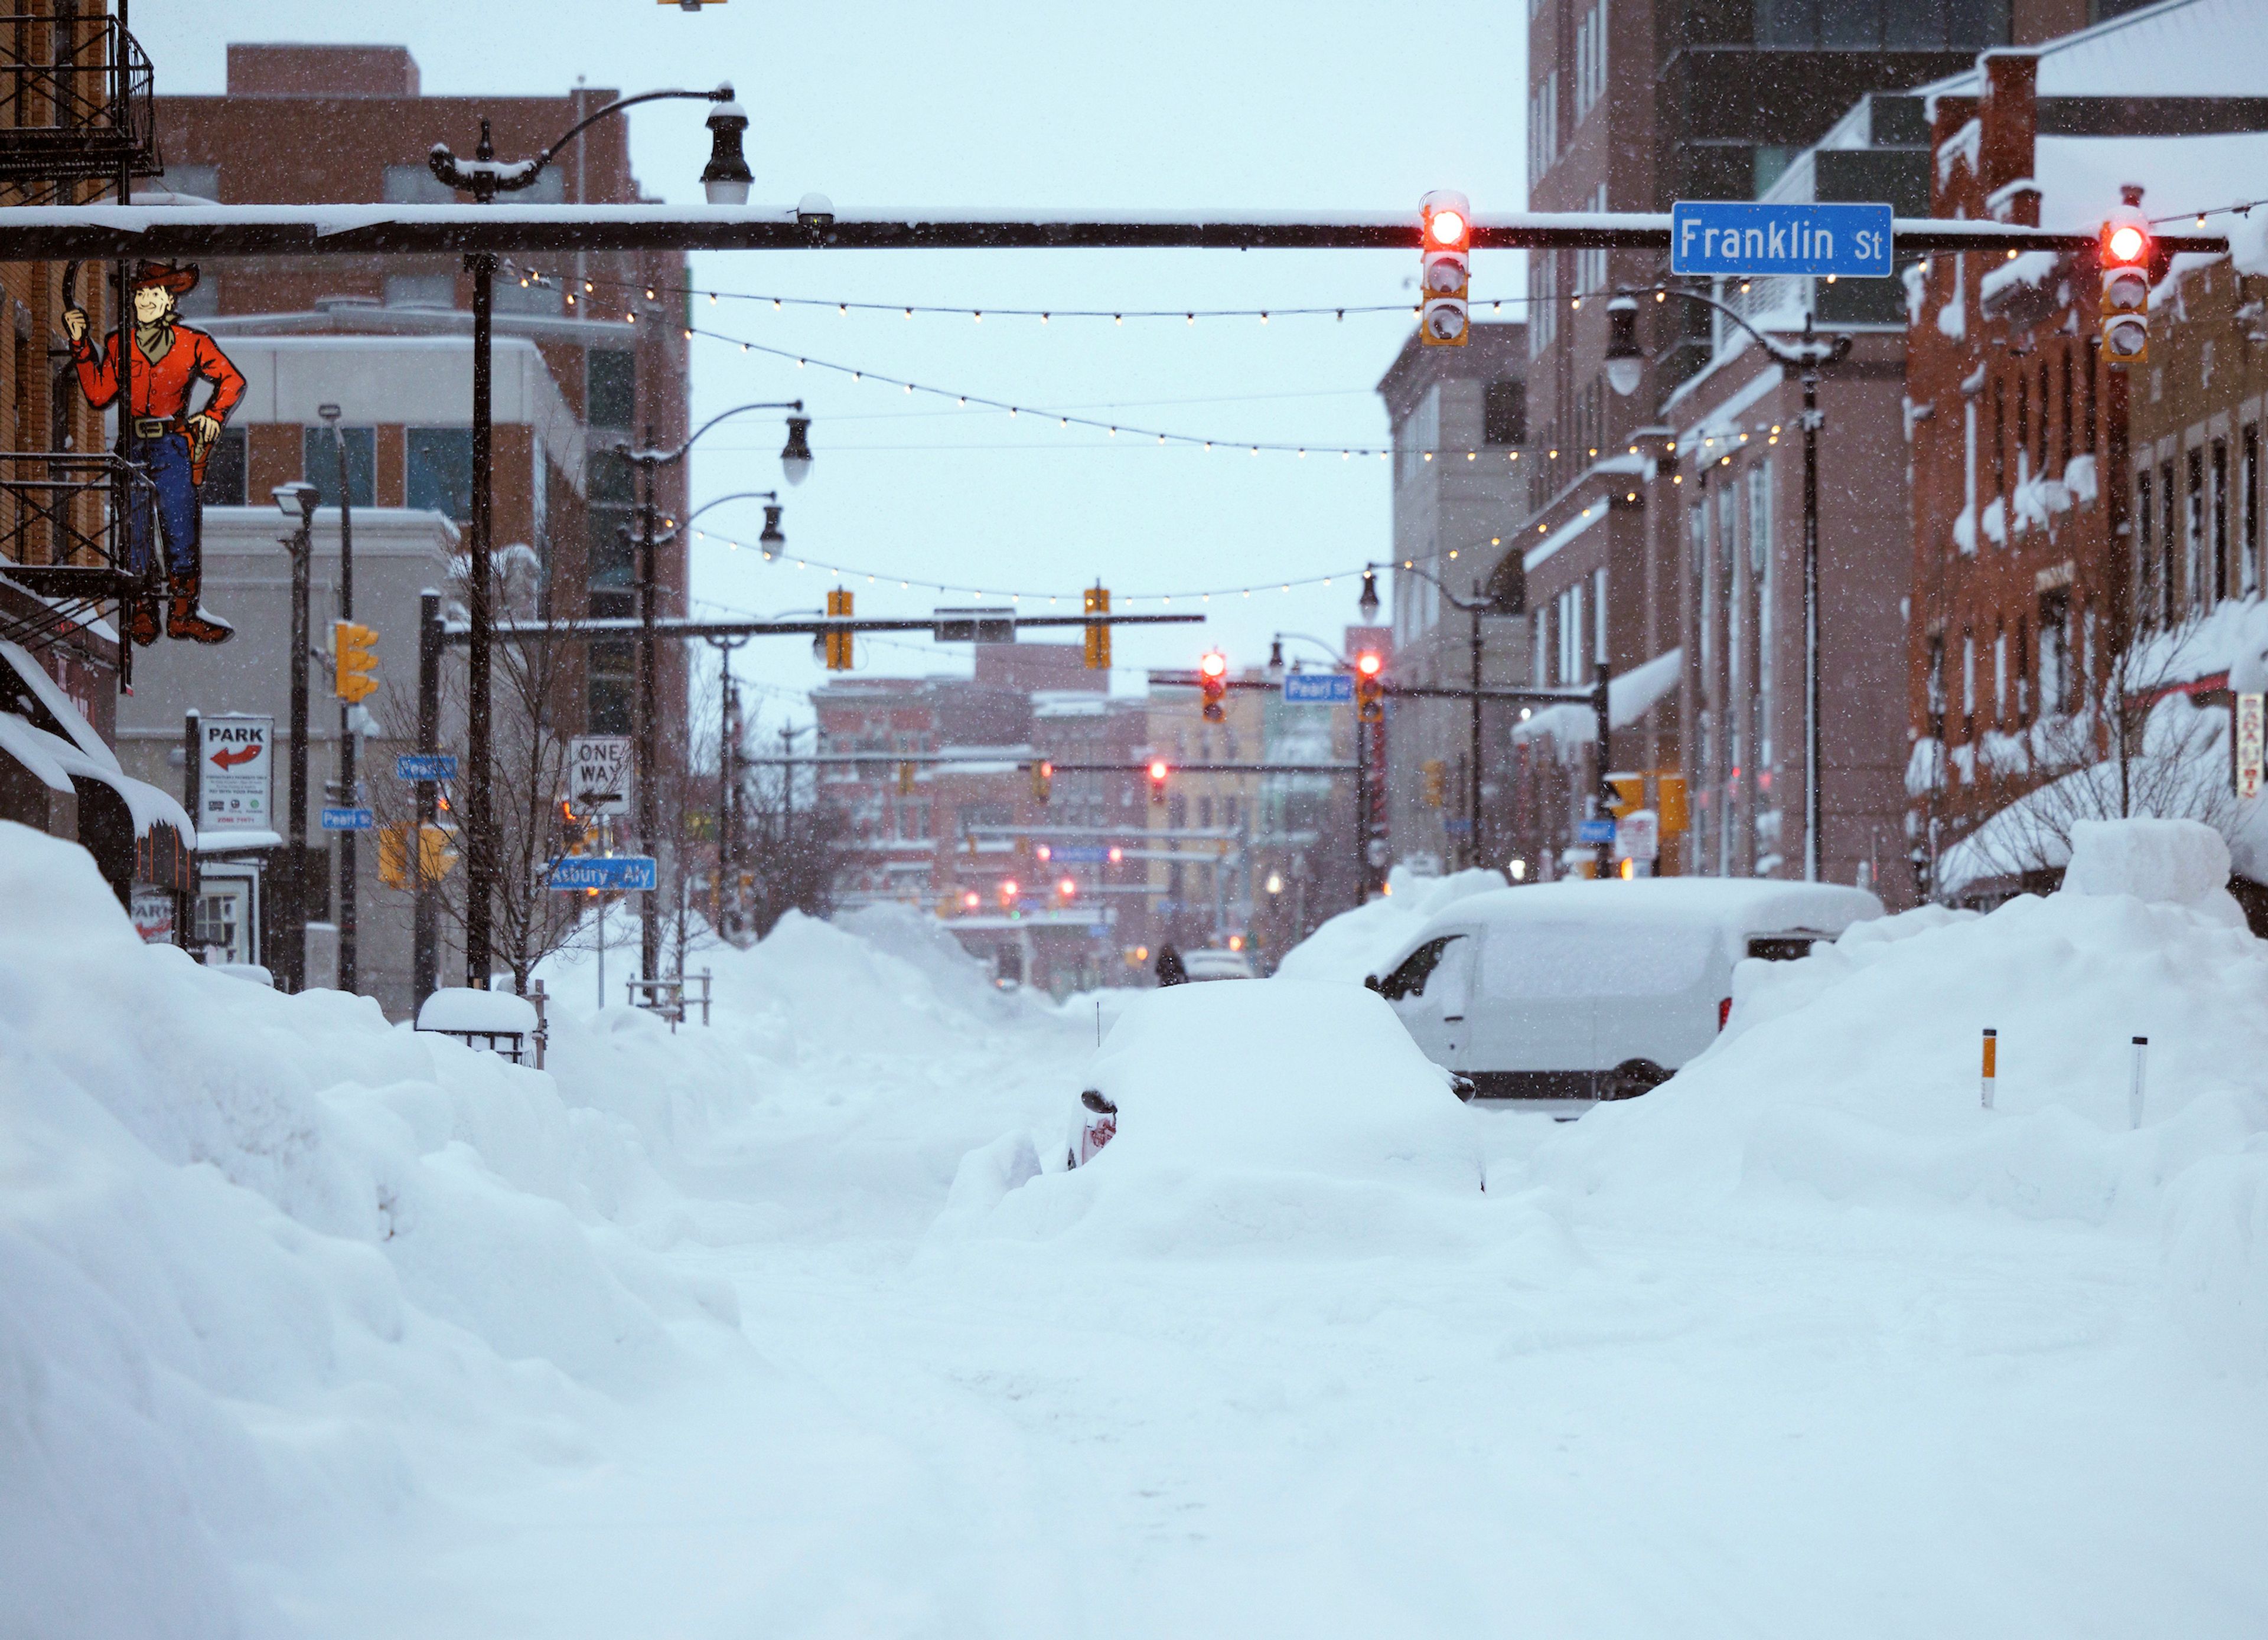
{"type": "Polygon", "coordinates": [[[1066,1161],[1476,1191],[1467,1096],[1365,991],[1175,984],[1129,1003],[1095,1050],[1066,1161]]]}

